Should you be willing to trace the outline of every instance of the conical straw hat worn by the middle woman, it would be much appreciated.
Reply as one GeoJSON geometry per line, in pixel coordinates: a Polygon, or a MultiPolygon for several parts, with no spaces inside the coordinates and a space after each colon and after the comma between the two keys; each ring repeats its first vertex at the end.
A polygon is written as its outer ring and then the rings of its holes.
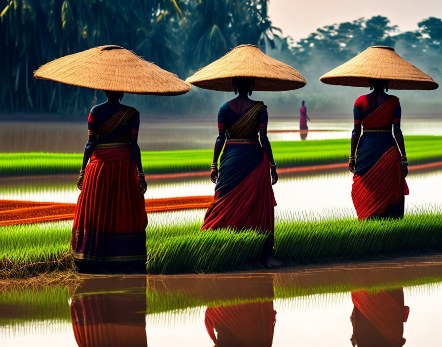
{"type": "Polygon", "coordinates": [[[233,48],[220,59],[199,69],[186,82],[222,92],[233,91],[233,77],[254,77],[257,91],[278,92],[305,86],[305,78],[294,68],[270,58],[254,45],[233,48]]]}

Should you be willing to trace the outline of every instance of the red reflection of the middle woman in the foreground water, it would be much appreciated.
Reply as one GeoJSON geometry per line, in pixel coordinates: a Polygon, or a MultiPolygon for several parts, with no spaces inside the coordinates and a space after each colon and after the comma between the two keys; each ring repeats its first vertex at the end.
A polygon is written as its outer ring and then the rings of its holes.
{"type": "MultiPolygon", "coordinates": [[[[252,300],[273,298],[272,278],[259,281],[256,289],[259,297],[252,300]]],[[[209,307],[204,319],[216,347],[271,347],[275,322],[273,301],[209,307]]]]}

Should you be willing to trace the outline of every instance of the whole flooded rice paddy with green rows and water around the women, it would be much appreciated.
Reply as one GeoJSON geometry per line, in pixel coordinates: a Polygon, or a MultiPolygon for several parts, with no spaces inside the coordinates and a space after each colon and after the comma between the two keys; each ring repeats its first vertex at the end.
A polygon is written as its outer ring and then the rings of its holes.
{"type": "MultiPolygon", "coordinates": [[[[195,136],[205,123],[188,131],[152,124],[151,139],[140,141],[148,173],[147,276],[75,272],[70,239],[84,145],[75,134],[82,127],[36,124],[23,133],[10,126],[24,143],[0,129],[0,345],[105,346],[111,338],[121,346],[280,347],[294,340],[350,346],[360,331],[349,319],[358,295],[368,305],[394,298],[404,312],[409,307],[406,322],[380,318],[398,334],[403,328],[396,338],[406,346],[441,345],[435,331],[442,302],[442,122],[409,123],[405,216],[362,222],[346,168],[351,129],[326,119],[317,126],[329,131],[300,141],[281,131],[296,125],[271,123],[279,170],[275,256],[284,265],[278,270],[260,263],[265,235],[200,230],[213,199],[207,164],[216,134],[195,136]],[[51,150],[53,143],[60,146],[51,150]]],[[[382,334],[366,334],[378,338],[369,346],[385,344],[382,334]]]]}

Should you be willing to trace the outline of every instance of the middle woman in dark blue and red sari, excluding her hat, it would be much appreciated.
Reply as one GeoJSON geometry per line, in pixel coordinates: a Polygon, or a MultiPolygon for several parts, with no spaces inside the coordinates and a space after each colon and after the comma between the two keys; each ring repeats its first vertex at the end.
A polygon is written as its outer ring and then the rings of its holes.
{"type": "Polygon", "coordinates": [[[216,183],[215,201],[202,229],[231,227],[265,233],[264,264],[274,267],[279,262],[272,256],[276,206],[272,184],[278,174],[267,138],[267,106],[249,99],[253,78],[233,78],[233,87],[238,97],[222,104],[218,112],[219,136],[210,174],[216,183]]]}

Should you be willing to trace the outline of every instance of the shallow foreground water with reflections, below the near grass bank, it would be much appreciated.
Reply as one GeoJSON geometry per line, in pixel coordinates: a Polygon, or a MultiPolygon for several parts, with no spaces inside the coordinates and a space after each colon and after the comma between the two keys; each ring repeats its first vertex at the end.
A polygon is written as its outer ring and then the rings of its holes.
{"type": "Polygon", "coordinates": [[[0,341],[211,347],[209,330],[218,346],[341,347],[351,346],[353,333],[377,336],[371,346],[385,336],[440,346],[441,300],[442,255],[274,272],[85,277],[69,287],[9,284],[0,291],[0,341]],[[365,312],[355,326],[354,303],[365,312]],[[405,323],[390,314],[404,306],[405,323]]]}

